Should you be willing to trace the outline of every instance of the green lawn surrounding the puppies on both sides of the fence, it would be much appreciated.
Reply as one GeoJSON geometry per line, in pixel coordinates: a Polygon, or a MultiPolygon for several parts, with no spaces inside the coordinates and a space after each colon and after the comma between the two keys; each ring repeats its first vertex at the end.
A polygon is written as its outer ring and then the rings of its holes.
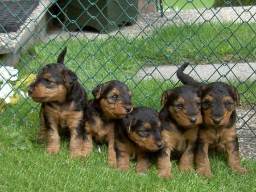
{"type": "MultiPolygon", "coordinates": [[[[29,56],[22,56],[19,77],[36,73],[42,65],[56,62],[59,47],[68,46],[65,65],[77,73],[90,98],[90,91],[97,84],[117,79],[133,91],[134,106],[159,109],[163,90],[179,84],[171,78],[138,80],[135,74],[142,66],[181,64],[185,60],[192,63],[255,61],[256,39],[252,38],[255,30],[255,23],[250,26],[228,23],[224,26],[167,26],[150,36],[135,39],[49,41],[32,46],[28,49],[29,56]]],[[[245,105],[255,102],[255,82],[232,84],[242,93],[245,105]]],[[[38,103],[28,98],[9,110],[11,112],[5,108],[5,116],[1,116],[1,121],[6,120],[0,126],[0,191],[255,191],[256,160],[242,160],[250,174],[240,176],[228,168],[224,155],[211,153],[213,178],[180,173],[174,162],[174,178],[168,181],[157,177],[154,161],[147,175],[134,173],[134,161],[129,172],[118,172],[106,166],[105,145],[99,153],[95,144],[88,159],[72,159],[68,156],[68,141],[64,140],[59,155],[48,155],[46,144],[37,139],[38,103]],[[23,119],[19,126],[16,124],[18,119],[23,119]]]]}

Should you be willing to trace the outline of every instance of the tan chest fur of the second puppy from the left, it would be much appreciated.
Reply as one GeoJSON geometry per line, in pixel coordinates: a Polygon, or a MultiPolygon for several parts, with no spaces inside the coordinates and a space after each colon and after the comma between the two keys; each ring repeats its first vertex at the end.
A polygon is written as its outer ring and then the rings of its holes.
{"type": "Polygon", "coordinates": [[[109,132],[114,131],[114,123],[108,123],[104,125],[104,122],[101,120],[101,118],[93,117],[94,122],[89,123],[89,121],[86,121],[85,123],[85,130],[86,132],[89,132],[93,136],[96,137],[97,141],[104,140],[109,132]]]}

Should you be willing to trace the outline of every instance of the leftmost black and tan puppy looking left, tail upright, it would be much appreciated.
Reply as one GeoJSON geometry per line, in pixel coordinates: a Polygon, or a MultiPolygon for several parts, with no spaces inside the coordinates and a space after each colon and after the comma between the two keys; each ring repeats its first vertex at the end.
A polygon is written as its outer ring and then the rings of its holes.
{"type": "Polygon", "coordinates": [[[40,139],[47,139],[48,153],[60,151],[58,128],[70,131],[70,155],[81,156],[85,123],[85,107],[88,101],[85,89],[77,81],[76,73],[64,66],[65,48],[57,63],[41,68],[28,88],[35,102],[42,103],[40,109],[40,139]]]}

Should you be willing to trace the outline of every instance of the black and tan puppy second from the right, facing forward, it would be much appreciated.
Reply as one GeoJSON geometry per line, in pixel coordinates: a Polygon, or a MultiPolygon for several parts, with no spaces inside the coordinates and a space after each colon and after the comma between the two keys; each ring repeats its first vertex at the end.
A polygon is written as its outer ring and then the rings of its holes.
{"type": "Polygon", "coordinates": [[[188,85],[166,90],[161,105],[159,118],[164,147],[158,155],[158,170],[159,177],[171,178],[170,158],[173,157],[179,159],[182,172],[193,171],[197,131],[203,120],[199,90],[188,85]]]}

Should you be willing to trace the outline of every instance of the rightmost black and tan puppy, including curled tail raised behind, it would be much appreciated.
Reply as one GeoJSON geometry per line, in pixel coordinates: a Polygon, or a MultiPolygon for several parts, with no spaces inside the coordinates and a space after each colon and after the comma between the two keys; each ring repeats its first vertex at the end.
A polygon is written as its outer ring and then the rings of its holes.
{"type": "Polygon", "coordinates": [[[184,74],[188,63],[184,63],[177,70],[177,77],[183,84],[192,85],[200,89],[202,98],[203,124],[200,126],[196,150],[196,169],[203,175],[210,177],[210,162],[208,149],[226,151],[229,166],[238,173],[247,173],[240,165],[238,138],[236,132],[236,108],[239,105],[239,95],[235,87],[224,82],[203,84],[184,74]],[[224,143],[224,145],[222,144],[224,143]]]}

